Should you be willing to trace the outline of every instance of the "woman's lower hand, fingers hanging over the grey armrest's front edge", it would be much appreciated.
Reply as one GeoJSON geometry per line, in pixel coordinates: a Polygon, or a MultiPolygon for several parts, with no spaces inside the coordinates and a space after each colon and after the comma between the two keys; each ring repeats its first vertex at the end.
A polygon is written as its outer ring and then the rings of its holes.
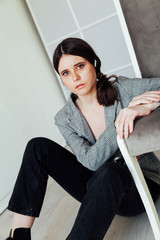
{"type": "Polygon", "coordinates": [[[120,110],[115,121],[116,131],[120,138],[128,138],[129,134],[133,132],[133,125],[136,117],[146,116],[151,113],[153,110],[152,104],[147,105],[128,106],[120,110]],[[150,107],[147,105],[150,105],[150,107]]]}

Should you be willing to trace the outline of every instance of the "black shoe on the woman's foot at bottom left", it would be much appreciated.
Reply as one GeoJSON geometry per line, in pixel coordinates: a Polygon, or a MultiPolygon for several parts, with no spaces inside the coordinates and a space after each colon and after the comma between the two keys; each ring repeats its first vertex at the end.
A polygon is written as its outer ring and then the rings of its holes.
{"type": "Polygon", "coordinates": [[[30,228],[16,228],[14,230],[13,238],[11,238],[11,231],[9,238],[7,238],[6,240],[31,240],[30,228]]]}

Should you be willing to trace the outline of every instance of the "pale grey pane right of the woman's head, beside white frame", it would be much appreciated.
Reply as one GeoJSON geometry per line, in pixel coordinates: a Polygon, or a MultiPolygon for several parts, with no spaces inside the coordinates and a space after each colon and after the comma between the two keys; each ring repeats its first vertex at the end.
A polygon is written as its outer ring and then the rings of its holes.
{"type": "Polygon", "coordinates": [[[102,61],[102,72],[131,62],[117,16],[88,28],[83,34],[96,49],[102,61]]]}

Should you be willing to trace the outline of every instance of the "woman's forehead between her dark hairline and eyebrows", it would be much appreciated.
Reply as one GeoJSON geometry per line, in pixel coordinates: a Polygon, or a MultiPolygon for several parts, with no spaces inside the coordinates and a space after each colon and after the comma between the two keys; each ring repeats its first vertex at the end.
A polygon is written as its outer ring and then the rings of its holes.
{"type": "Polygon", "coordinates": [[[88,62],[88,61],[85,58],[80,57],[80,56],[64,54],[60,58],[59,65],[58,65],[58,71],[61,72],[64,69],[68,69],[79,62],[88,62]]]}

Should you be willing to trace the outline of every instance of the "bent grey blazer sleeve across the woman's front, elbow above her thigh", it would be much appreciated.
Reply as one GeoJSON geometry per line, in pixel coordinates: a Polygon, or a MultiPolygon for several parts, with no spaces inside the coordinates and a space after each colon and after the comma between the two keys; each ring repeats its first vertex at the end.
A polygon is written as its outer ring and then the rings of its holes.
{"type": "Polygon", "coordinates": [[[56,119],[55,123],[65,138],[67,145],[76,155],[77,160],[92,171],[96,171],[118,149],[117,133],[113,123],[108,125],[107,130],[102,133],[94,144],[79,136],[69,124],[59,123],[56,119]]]}

